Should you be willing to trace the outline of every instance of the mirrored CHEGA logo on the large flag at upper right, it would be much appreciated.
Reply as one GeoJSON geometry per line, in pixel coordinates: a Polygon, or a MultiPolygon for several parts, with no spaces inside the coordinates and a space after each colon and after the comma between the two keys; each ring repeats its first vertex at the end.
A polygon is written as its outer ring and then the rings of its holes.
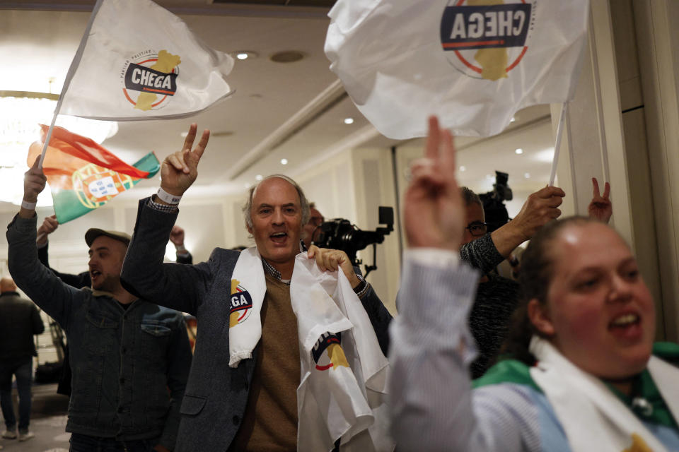
{"type": "Polygon", "coordinates": [[[441,47],[455,69],[497,81],[521,64],[534,27],[535,0],[450,0],[441,47]]]}

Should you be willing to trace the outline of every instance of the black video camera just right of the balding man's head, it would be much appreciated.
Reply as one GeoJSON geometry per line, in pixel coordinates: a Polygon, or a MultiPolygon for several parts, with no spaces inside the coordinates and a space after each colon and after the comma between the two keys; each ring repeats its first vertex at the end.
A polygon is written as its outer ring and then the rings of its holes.
{"type": "MultiPolygon", "coordinates": [[[[385,235],[394,230],[394,209],[384,206],[380,206],[379,209],[380,224],[386,227],[378,227],[374,231],[362,231],[356,225],[352,225],[349,220],[335,218],[318,227],[320,230],[318,240],[314,240],[313,244],[319,248],[341,249],[347,253],[354,266],[362,263],[360,259],[356,259],[356,252],[368,245],[373,245],[373,265],[366,265],[364,274],[364,277],[368,276],[368,273],[377,269],[377,244],[384,242],[385,235]]],[[[316,237],[315,233],[313,237],[316,237]]]]}

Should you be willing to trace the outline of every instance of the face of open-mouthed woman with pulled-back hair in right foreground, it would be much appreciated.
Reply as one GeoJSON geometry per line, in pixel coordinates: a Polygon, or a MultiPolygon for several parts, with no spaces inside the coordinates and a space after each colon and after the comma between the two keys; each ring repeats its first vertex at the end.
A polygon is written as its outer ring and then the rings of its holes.
{"type": "Polygon", "coordinates": [[[547,253],[553,273],[538,329],[590,374],[625,379],[642,371],[656,316],[627,244],[603,224],[573,224],[547,242],[547,253]]]}

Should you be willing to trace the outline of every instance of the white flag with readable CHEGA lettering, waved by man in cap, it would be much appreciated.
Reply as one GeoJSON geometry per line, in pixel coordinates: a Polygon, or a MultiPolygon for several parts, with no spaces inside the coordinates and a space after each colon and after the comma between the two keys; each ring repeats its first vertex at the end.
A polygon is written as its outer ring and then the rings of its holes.
{"type": "Polygon", "coordinates": [[[153,1],[98,0],[57,112],[115,121],[187,117],[232,93],[232,68],[228,54],[153,1]]]}

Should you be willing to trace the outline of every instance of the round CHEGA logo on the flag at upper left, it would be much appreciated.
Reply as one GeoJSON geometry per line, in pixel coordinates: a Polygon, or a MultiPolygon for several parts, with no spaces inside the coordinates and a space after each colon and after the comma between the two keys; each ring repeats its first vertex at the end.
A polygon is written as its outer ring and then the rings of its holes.
{"type": "Polygon", "coordinates": [[[169,104],[177,92],[179,55],[145,50],[125,61],[120,73],[122,92],[135,109],[156,110],[169,104]]]}

